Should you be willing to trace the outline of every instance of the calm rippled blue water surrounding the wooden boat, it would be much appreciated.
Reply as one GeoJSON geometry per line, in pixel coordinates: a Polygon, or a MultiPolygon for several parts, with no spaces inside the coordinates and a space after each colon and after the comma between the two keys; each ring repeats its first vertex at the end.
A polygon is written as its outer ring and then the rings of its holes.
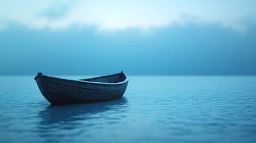
{"type": "Polygon", "coordinates": [[[120,100],[61,106],[0,77],[0,142],[255,141],[256,76],[131,76],[120,100]]]}

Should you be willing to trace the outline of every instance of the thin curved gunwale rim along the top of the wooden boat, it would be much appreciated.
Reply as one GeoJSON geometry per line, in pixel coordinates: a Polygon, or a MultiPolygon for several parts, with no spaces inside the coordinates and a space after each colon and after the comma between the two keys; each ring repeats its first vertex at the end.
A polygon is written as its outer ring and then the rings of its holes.
{"type": "MultiPolygon", "coordinates": [[[[50,78],[53,78],[53,79],[68,80],[68,81],[72,81],[72,82],[92,83],[92,84],[95,84],[95,85],[122,85],[122,84],[127,83],[129,81],[129,78],[127,77],[127,74],[125,74],[123,71],[121,71],[121,73],[109,74],[109,75],[106,75],[106,76],[91,77],[91,78],[87,78],[87,79],[96,79],[96,78],[101,78],[101,77],[109,77],[109,76],[115,76],[117,74],[124,74],[125,80],[122,81],[122,82],[109,83],[109,82],[90,82],[90,81],[87,81],[86,79],[79,79],[79,80],[64,79],[64,78],[61,78],[61,77],[47,76],[45,74],[42,74],[42,76],[50,77],[50,78]]],[[[37,77],[38,77],[38,75],[35,77],[35,79],[37,77]]]]}

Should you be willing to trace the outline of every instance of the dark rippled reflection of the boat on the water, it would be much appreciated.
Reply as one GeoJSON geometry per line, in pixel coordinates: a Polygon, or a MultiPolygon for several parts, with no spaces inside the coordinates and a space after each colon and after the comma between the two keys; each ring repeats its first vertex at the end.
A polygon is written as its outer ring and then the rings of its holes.
{"type": "MultiPolygon", "coordinates": [[[[67,142],[89,129],[118,123],[128,107],[126,98],[91,104],[49,105],[39,112],[38,132],[46,142],[67,142]]],[[[90,133],[93,134],[93,132],[90,133]]]]}

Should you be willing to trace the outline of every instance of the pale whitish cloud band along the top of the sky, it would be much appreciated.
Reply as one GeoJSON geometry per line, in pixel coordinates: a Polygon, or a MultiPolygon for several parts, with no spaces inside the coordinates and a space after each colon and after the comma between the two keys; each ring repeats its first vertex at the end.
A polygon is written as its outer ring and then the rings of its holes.
{"type": "Polygon", "coordinates": [[[219,23],[238,31],[241,21],[256,18],[255,1],[5,1],[0,4],[0,29],[17,23],[32,30],[95,26],[118,30],[187,23],[219,23]]]}

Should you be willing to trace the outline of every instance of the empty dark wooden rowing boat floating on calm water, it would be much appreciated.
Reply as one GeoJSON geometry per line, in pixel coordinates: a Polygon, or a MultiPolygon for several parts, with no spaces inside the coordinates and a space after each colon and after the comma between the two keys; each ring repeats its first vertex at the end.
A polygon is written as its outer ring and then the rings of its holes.
{"type": "Polygon", "coordinates": [[[115,100],[124,95],[129,81],[123,71],[80,80],[38,73],[35,80],[41,94],[53,105],[115,100]]]}

